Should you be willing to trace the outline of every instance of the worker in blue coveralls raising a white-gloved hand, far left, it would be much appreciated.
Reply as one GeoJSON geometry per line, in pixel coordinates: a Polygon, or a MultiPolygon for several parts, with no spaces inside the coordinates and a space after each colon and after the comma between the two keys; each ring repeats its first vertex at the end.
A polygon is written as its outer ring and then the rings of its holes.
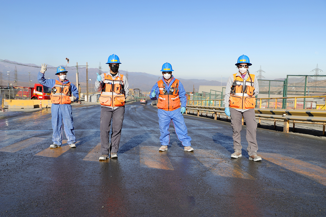
{"type": "Polygon", "coordinates": [[[45,79],[46,71],[45,64],[42,64],[41,71],[37,75],[38,82],[46,87],[52,88],[50,95],[52,106],[52,141],[50,148],[60,147],[62,144],[62,121],[64,123],[67,143],[71,148],[76,148],[76,136],[74,129],[74,120],[72,119],[71,102],[78,100],[78,90],[76,86],[66,79],[67,70],[63,66],[57,68],[55,75],[58,75],[58,80],[45,79]]]}

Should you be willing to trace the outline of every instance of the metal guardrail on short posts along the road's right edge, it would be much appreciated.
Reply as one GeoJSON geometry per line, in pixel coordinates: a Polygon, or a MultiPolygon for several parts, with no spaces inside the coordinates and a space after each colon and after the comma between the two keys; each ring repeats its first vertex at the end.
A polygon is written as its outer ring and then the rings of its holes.
{"type": "MultiPolygon", "coordinates": [[[[217,106],[196,106],[187,105],[186,114],[190,110],[196,110],[197,116],[201,113],[214,113],[214,120],[220,119],[220,115],[225,115],[224,107],[217,106]]],[[[226,116],[226,115],[225,115],[226,116]]],[[[276,121],[283,121],[283,132],[289,132],[289,123],[293,123],[293,130],[295,129],[295,123],[304,124],[317,124],[323,125],[323,135],[325,135],[326,125],[326,111],[325,110],[305,110],[305,109],[261,109],[255,108],[255,116],[260,120],[272,120],[274,121],[274,129],[276,127],[276,121]]],[[[226,116],[228,120],[228,116],[226,116]]]]}

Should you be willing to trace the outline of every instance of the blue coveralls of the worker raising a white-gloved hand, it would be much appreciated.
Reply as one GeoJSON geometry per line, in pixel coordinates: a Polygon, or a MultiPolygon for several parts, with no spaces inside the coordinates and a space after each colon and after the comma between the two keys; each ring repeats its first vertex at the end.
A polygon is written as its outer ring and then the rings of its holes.
{"type": "MultiPolygon", "coordinates": [[[[55,85],[55,79],[45,79],[43,73],[38,73],[37,80],[40,84],[53,88],[55,85]]],[[[60,80],[58,80],[61,82],[60,80]]],[[[62,82],[61,82],[62,83],[62,82]]],[[[69,80],[65,80],[64,84],[69,83],[69,80]]],[[[77,101],[79,99],[77,87],[70,83],[71,94],[75,96],[77,101]]],[[[67,143],[70,145],[76,142],[74,120],[72,119],[72,108],[70,104],[53,104],[51,106],[52,114],[52,141],[53,144],[61,146],[62,144],[62,121],[64,124],[65,134],[67,137],[67,143]]]]}

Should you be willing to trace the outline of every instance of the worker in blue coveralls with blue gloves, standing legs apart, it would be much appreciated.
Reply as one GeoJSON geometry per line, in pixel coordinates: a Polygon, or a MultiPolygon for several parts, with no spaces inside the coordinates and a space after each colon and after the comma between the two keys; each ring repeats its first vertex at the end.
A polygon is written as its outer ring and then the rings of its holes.
{"type": "Polygon", "coordinates": [[[151,89],[150,97],[157,101],[157,115],[160,127],[160,143],[159,151],[167,151],[170,142],[169,127],[171,121],[174,124],[175,133],[184,146],[184,150],[191,152],[191,138],[188,136],[188,130],[185,126],[183,113],[187,103],[185,88],[178,79],[172,75],[172,65],[164,63],[162,66],[162,80],[159,80],[151,89]],[[181,105],[180,105],[181,103],[181,105]]]}

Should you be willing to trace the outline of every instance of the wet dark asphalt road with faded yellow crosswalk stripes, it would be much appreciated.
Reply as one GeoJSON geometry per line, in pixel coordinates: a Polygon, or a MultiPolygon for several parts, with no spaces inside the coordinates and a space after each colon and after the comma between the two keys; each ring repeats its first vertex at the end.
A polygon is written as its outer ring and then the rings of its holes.
{"type": "MultiPolygon", "coordinates": [[[[99,161],[100,105],[74,104],[77,147],[52,144],[51,109],[0,113],[0,216],[326,216],[326,138],[257,129],[261,162],[231,159],[229,122],[184,115],[158,152],[157,108],[126,105],[117,159],[99,161]]],[[[65,136],[64,136],[65,138],[65,136]]]]}

